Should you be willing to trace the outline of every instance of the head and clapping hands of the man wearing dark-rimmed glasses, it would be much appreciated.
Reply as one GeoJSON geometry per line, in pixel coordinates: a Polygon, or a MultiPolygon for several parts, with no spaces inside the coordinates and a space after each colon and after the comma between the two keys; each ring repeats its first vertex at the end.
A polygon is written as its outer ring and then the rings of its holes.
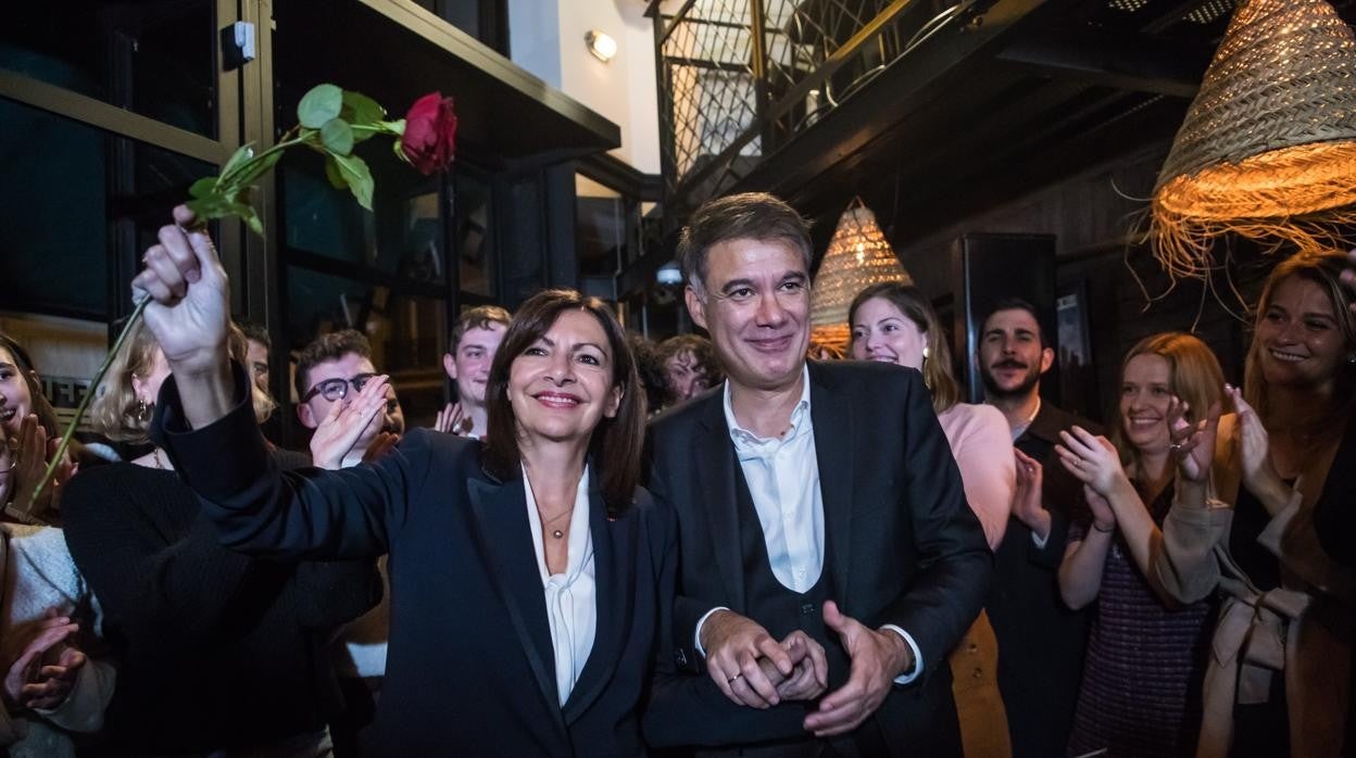
{"type": "MultiPolygon", "coordinates": [[[[343,330],[320,335],[301,351],[297,359],[297,418],[306,428],[315,430],[330,415],[335,403],[357,397],[367,380],[377,374],[372,365],[372,344],[361,332],[343,330]]],[[[373,446],[389,446],[392,435],[404,431],[404,414],[393,389],[388,391],[386,411],[372,419],[358,441],[343,453],[334,466],[316,461],[323,468],[347,468],[362,461],[373,446]],[[382,433],[386,433],[384,437],[382,433]]],[[[315,450],[315,445],[312,445],[315,450]]]]}

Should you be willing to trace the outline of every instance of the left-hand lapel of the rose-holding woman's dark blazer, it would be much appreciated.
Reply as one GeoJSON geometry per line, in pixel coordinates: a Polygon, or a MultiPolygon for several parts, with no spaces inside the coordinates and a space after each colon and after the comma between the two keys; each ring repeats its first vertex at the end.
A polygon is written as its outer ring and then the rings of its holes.
{"type": "Polygon", "coordinates": [[[471,504],[476,514],[476,541],[490,564],[490,578],[513,620],[518,643],[537,679],[546,712],[568,742],[556,689],[555,652],[551,624],[546,621],[541,572],[533,555],[532,526],[527,523],[527,499],[522,479],[500,484],[472,479],[471,504]],[[526,548],[526,549],[525,549],[526,548]]]}

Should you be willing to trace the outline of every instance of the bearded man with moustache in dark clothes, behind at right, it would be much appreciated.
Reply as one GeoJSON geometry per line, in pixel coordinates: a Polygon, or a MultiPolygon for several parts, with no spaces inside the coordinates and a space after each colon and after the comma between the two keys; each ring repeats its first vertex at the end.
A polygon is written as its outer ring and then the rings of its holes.
{"type": "MultiPolygon", "coordinates": [[[[1055,361],[1036,308],[1003,300],[984,319],[979,373],[984,396],[1008,418],[1013,446],[1041,469],[1041,496],[1018,495],[994,555],[994,583],[984,609],[998,637],[998,690],[1008,709],[1014,758],[1063,755],[1083,670],[1088,624],[1059,597],[1070,514],[1082,484],[1059,465],[1059,433],[1096,424],[1040,397],[1040,377],[1055,361]]],[[[1018,461],[1018,464],[1021,464],[1018,461]]],[[[1032,466],[1036,468],[1036,466],[1032,466]]]]}

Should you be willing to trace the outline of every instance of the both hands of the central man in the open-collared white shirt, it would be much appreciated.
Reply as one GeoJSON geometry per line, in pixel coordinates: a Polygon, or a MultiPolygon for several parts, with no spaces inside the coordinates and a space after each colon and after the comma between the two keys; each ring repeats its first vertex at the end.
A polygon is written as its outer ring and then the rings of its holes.
{"type": "MultiPolygon", "coordinates": [[[[824,603],[824,625],[838,633],[852,658],[843,686],[819,700],[804,727],[816,736],[856,730],[880,708],[895,677],[914,667],[903,637],[871,629],[843,616],[834,601],[824,603]]],[[[706,673],[731,701],[770,708],[782,701],[811,701],[829,689],[824,648],[796,631],[777,641],[751,618],[731,610],[712,613],[701,628],[706,673]]]]}

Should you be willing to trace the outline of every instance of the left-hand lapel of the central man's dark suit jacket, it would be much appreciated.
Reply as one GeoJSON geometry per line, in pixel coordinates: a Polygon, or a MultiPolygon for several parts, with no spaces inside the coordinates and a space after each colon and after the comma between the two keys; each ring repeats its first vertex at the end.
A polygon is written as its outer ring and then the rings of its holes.
{"type": "Polygon", "coordinates": [[[711,545],[716,553],[716,568],[725,583],[725,597],[736,612],[744,610],[744,564],[739,555],[739,513],[736,508],[735,477],[743,476],[736,465],[735,443],[730,441],[725,423],[725,395],[712,392],[701,414],[704,433],[692,452],[697,469],[694,499],[706,511],[711,545]],[[709,442],[708,442],[709,441],[709,442]]]}

